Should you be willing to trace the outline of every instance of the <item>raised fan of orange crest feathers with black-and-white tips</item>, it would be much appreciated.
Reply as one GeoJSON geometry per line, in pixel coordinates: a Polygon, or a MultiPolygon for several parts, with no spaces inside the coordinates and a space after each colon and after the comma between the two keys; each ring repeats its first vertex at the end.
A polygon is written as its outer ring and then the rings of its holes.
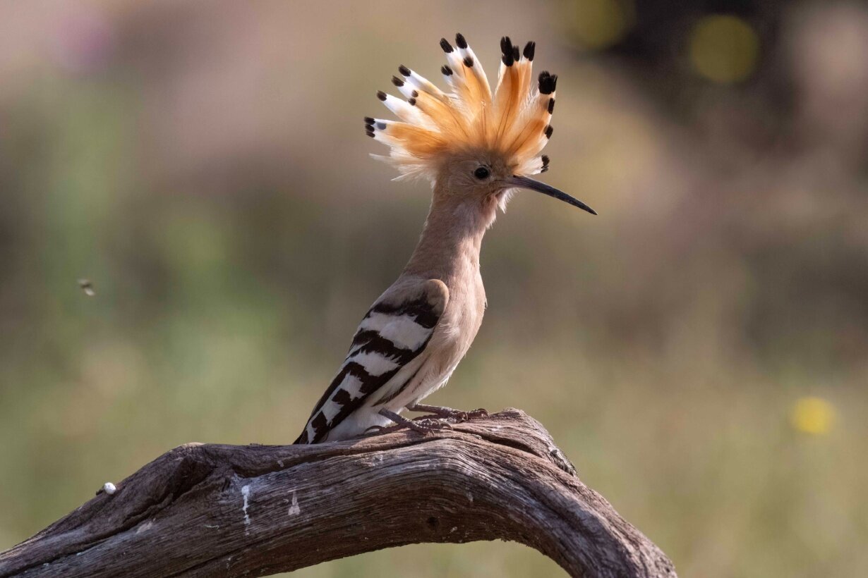
{"type": "Polygon", "coordinates": [[[401,65],[392,83],[405,101],[379,92],[378,98],[400,121],[365,118],[365,132],[391,147],[388,157],[372,155],[395,166],[402,177],[434,179],[437,167],[451,154],[466,150],[498,153],[519,175],[548,169],[537,156],[551,136],[557,76],[542,72],[533,79],[536,43],[523,50],[509,36],[501,39],[501,63],[492,92],[482,62],[463,35],[440,47],[447,64],[441,68],[450,92],[401,65]]]}

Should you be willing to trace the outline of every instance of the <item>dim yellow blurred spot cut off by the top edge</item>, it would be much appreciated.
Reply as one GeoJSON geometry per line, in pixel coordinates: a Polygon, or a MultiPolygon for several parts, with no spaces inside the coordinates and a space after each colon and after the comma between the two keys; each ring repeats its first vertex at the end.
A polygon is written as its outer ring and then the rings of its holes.
{"type": "Polygon", "coordinates": [[[634,8],[629,0],[574,0],[567,16],[570,32],[583,47],[602,50],[627,34],[634,8]]]}

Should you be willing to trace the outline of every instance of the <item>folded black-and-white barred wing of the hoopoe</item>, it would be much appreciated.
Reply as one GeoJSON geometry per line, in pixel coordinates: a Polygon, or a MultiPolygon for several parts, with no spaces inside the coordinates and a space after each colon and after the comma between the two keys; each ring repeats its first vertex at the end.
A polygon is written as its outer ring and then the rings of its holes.
{"type": "MultiPolygon", "coordinates": [[[[449,289],[438,279],[396,283],[381,295],[359,324],[344,364],[295,443],[324,441],[332,428],[393,380],[428,345],[448,301],[449,289]]],[[[389,385],[393,389],[403,384],[389,385]]]]}

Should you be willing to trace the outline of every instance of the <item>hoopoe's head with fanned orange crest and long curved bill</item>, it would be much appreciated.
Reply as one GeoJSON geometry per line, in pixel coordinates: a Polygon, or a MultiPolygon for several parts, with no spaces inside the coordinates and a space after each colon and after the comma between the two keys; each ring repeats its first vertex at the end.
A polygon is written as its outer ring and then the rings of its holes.
{"type": "Polygon", "coordinates": [[[494,90],[464,36],[458,34],[456,44],[440,41],[448,61],[441,72],[450,92],[403,65],[392,83],[406,100],[378,92],[400,120],[365,118],[368,136],[391,147],[389,156],[372,156],[395,166],[398,179],[430,179],[440,194],[503,208],[512,191],[529,189],[596,214],[530,178],[549,169],[549,157],[540,153],[552,134],[557,85],[557,76],[545,71],[533,78],[536,44],[521,50],[509,37],[501,39],[494,90]]]}

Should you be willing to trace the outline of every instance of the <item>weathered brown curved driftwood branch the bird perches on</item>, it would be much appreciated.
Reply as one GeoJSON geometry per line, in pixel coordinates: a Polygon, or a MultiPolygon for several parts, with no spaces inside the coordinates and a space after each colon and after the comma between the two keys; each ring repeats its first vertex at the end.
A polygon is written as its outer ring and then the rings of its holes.
{"type": "Polygon", "coordinates": [[[422,436],[188,444],[0,554],[0,576],[268,575],[419,542],[521,542],[573,576],[674,576],[507,410],[422,436]]]}

